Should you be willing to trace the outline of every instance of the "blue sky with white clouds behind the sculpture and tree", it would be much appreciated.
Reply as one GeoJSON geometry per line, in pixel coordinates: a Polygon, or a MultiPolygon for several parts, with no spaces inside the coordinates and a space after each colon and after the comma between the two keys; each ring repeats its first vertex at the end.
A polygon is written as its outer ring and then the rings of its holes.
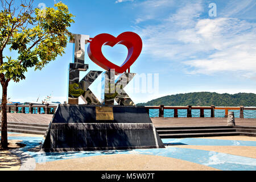
{"type": "MultiPolygon", "coordinates": [[[[57,1],[56,1],[57,2],[57,1]]],[[[142,53],[131,66],[137,76],[158,74],[158,89],[143,92],[134,84],[126,92],[135,102],[189,92],[256,93],[256,1],[62,1],[75,15],[69,31],[94,37],[101,33],[117,36],[125,31],[142,38],[142,53]],[[216,16],[210,16],[210,3],[216,5],[216,16]]],[[[51,1],[35,1],[52,7],[51,1]]],[[[86,47],[88,44],[85,45],[86,47]]],[[[121,65],[126,47],[104,46],[102,52],[113,63],[121,65]]],[[[9,50],[5,55],[14,55],[9,50]]],[[[28,69],[26,80],[10,82],[11,101],[67,101],[68,65],[73,59],[69,43],[62,57],[42,71],[28,69]]],[[[89,70],[103,70],[85,55],[89,70]]],[[[81,73],[82,78],[86,72],[81,73]]],[[[135,76],[136,77],[136,76],[135,76]]],[[[100,99],[100,80],[90,89],[100,99]]],[[[150,77],[147,77],[150,80],[150,77]]],[[[80,102],[82,104],[82,102],[80,102]]]]}

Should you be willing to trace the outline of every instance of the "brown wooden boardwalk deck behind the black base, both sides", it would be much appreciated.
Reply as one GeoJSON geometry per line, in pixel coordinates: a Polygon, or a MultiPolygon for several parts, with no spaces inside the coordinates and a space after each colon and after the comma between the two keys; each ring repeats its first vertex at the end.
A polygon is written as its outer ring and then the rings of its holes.
{"type": "MultiPolygon", "coordinates": [[[[39,123],[48,125],[53,114],[7,113],[7,122],[39,123]]],[[[227,118],[151,118],[155,127],[175,126],[226,126],[227,118]]],[[[256,119],[236,118],[236,125],[256,126],[256,119]]]]}

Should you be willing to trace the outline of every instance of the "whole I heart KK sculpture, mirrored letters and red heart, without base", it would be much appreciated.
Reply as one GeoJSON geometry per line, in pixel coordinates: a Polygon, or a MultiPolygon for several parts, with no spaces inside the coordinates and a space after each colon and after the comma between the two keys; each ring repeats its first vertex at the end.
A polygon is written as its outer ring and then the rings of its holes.
{"type": "Polygon", "coordinates": [[[110,34],[100,34],[89,38],[89,35],[73,34],[73,39],[70,42],[75,43],[75,48],[74,63],[69,64],[68,104],[79,104],[79,97],[81,97],[85,104],[89,105],[114,105],[114,100],[118,105],[134,105],[123,88],[135,76],[135,73],[130,73],[130,66],[142,51],[142,40],[139,35],[134,32],[123,32],[117,38],[110,34]],[[79,81],[80,71],[88,70],[88,64],[84,64],[84,44],[88,42],[90,42],[87,48],[88,56],[94,63],[106,70],[102,74],[101,102],[98,101],[89,86],[100,76],[102,71],[89,71],[79,81]],[[122,44],[128,49],[128,55],[120,67],[107,60],[101,51],[102,46],[113,47],[115,44],[122,44]],[[128,73],[126,73],[127,69],[128,73]],[[116,80],[115,75],[118,75],[116,80]]]}

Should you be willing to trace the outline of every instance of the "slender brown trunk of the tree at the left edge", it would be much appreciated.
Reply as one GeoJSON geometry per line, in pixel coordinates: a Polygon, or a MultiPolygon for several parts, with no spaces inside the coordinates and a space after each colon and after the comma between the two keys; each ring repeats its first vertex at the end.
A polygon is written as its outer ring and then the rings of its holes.
{"type": "Polygon", "coordinates": [[[7,86],[8,83],[2,84],[2,105],[1,105],[1,121],[2,121],[2,130],[1,130],[1,147],[8,148],[7,141],[7,86]]]}

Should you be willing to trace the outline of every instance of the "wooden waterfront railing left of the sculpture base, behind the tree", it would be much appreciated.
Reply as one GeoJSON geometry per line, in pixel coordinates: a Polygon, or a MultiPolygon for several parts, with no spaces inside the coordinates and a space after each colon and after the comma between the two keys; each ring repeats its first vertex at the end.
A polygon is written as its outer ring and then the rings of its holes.
{"type": "MultiPolygon", "coordinates": [[[[1,106],[1,105],[0,105],[1,106]]],[[[25,108],[28,107],[28,113],[33,114],[34,111],[37,109],[37,114],[41,114],[41,108],[44,110],[44,114],[53,114],[55,113],[55,110],[57,108],[57,105],[49,105],[49,104],[42,104],[42,105],[18,105],[18,104],[8,104],[7,106],[7,113],[11,113],[13,111],[14,113],[19,113],[19,107],[22,107],[21,113],[26,113],[25,108]]],[[[0,107],[1,108],[1,107],[0,107]]],[[[43,114],[43,113],[42,113],[43,114]]]]}

